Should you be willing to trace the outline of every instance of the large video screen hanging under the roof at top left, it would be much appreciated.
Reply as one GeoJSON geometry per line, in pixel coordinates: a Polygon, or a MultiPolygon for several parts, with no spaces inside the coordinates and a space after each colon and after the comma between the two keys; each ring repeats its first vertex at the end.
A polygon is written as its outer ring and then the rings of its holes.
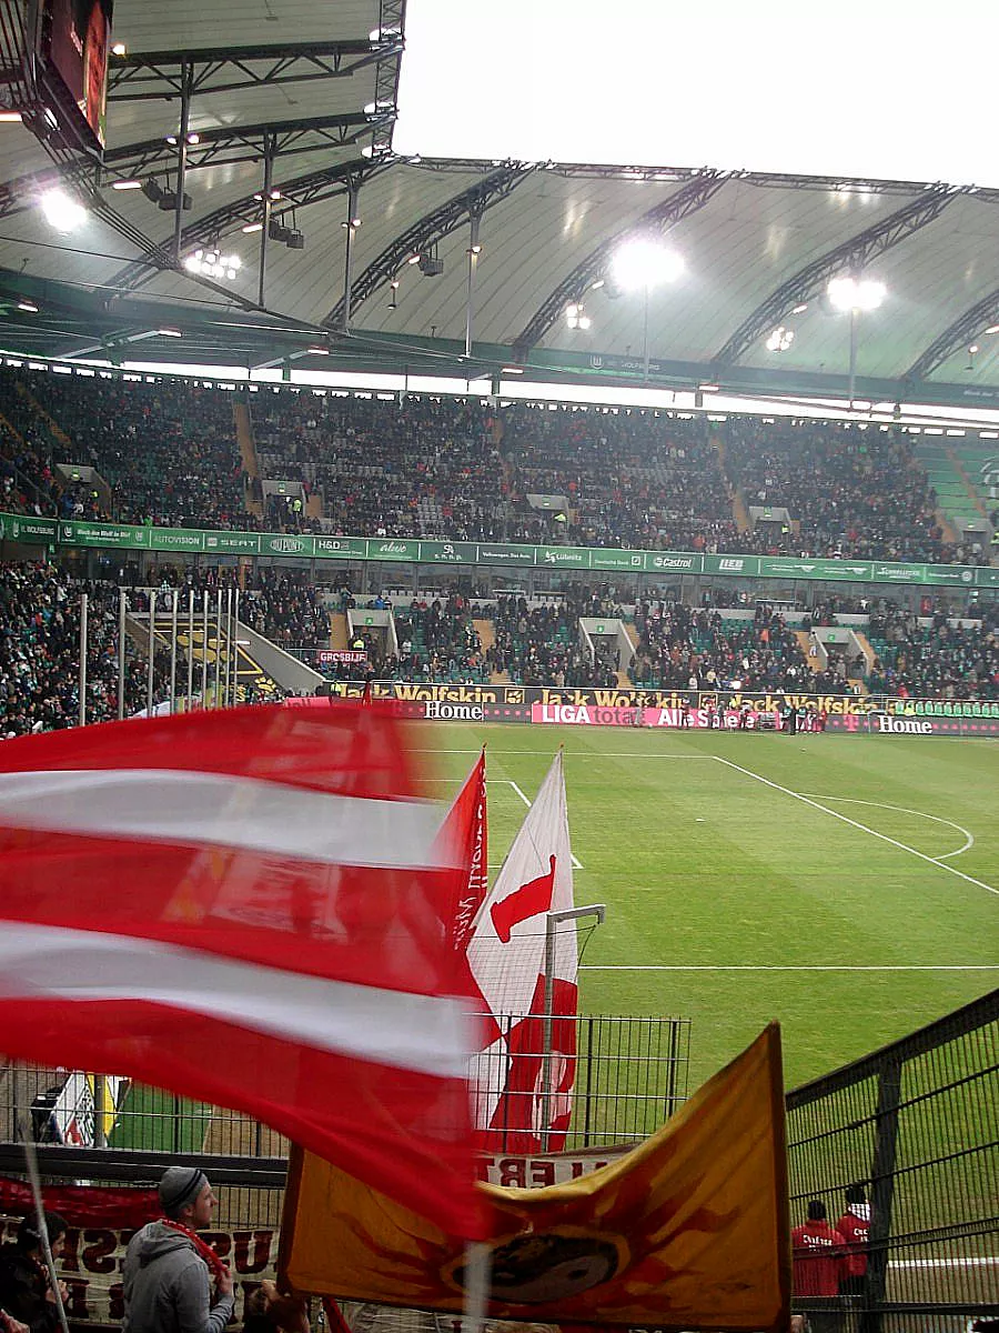
{"type": "Polygon", "coordinates": [[[73,107],[79,111],[73,129],[100,148],[104,147],[113,3],[44,0],[43,9],[41,56],[49,75],[49,91],[64,115],[72,115],[73,107]]]}

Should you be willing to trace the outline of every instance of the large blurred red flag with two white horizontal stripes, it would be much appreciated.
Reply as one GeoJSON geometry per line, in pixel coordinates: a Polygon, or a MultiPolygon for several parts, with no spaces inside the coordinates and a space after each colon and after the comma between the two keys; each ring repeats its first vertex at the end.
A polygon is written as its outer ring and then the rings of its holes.
{"type": "Polygon", "coordinates": [[[0,1049],[248,1112],[460,1234],[457,868],[378,709],[246,708],[0,746],[0,1049]]]}

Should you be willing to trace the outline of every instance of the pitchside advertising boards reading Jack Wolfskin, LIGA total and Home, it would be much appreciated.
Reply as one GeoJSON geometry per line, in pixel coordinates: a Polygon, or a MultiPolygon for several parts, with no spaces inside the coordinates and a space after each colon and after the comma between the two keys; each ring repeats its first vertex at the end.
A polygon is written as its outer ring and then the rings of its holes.
{"type": "MultiPolygon", "coordinates": [[[[322,697],[285,704],[325,708],[329,698],[360,697],[365,688],[362,681],[328,681],[322,697]]],[[[790,706],[810,710],[806,732],[821,725],[815,720],[825,712],[826,730],[851,736],[999,736],[999,700],[409,681],[372,681],[370,697],[392,702],[405,717],[441,722],[785,730],[790,706]]]]}

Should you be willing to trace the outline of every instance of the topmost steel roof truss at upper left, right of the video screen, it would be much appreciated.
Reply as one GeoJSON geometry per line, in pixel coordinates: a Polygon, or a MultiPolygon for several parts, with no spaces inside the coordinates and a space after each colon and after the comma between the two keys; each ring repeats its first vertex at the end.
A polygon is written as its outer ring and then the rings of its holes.
{"type": "Polygon", "coordinates": [[[182,69],[194,69],[194,93],[345,79],[386,59],[398,59],[402,41],[276,43],[197,51],[144,51],[112,57],[108,97],[112,101],[169,101],[180,96],[182,69]]]}

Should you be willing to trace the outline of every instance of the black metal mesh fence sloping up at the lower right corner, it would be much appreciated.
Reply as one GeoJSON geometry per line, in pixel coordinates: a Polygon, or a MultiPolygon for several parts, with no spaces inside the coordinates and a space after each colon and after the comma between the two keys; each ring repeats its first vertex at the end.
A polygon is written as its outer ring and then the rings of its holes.
{"type": "Polygon", "coordinates": [[[787,1146],[793,1226],[811,1200],[835,1226],[851,1185],[870,1205],[855,1290],[795,1298],[813,1325],[964,1333],[999,1314],[999,990],[791,1092],[787,1146]]]}

